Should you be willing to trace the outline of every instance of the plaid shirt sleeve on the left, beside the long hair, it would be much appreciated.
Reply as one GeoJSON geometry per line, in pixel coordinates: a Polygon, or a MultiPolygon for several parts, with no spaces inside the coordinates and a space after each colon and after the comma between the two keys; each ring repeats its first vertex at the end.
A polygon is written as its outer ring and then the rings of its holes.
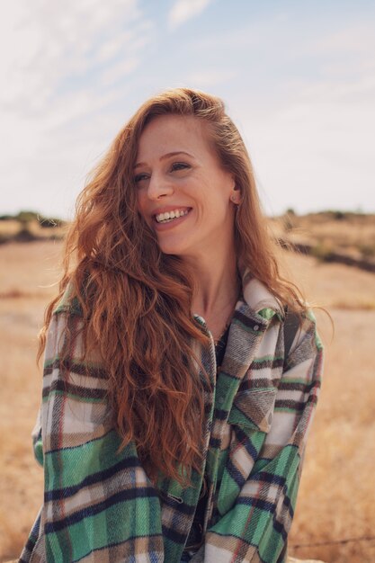
{"type": "Polygon", "coordinates": [[[44,503],[20,561],[164,560],[160,502],[133,442],[112,427],[107,378],[84,357],[83,320],[67,311],[49,325],[40,421],[44,503]]]}

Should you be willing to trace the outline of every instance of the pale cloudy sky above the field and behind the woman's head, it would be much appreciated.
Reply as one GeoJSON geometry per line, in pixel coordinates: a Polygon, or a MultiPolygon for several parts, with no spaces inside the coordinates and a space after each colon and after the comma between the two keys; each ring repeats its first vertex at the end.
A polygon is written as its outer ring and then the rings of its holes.
{"type": "Polygon", "coordinates": [[[138,106],[219,95],[263,209],[375,212],[375,3],[17,0],[0,7],[0,215],[72,219],[138,106]]]}

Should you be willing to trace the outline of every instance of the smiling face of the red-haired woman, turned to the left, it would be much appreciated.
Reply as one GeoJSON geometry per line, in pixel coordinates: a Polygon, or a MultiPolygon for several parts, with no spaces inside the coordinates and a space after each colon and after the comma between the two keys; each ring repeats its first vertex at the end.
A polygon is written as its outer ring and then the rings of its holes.
{"type": "Polygon", "coordinates": [[[139,139],[138,211],[165,254],[215,255],[234,234],[235,180],[224,171],[198,118],[163,115],[139,139]]]}

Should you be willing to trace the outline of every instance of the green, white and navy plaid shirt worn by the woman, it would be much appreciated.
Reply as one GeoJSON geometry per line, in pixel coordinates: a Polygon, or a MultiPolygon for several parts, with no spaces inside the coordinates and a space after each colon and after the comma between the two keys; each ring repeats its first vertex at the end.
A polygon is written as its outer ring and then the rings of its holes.
{"type": "MultiPolygon", "coordinates": [[[[196,319],[210,335],[204,320],[196,319]]],[[[259,281],[243,281],[218,374],[212,336],[210,349],[194,344],[213,383],[204,398],[201,473],[209,495],[195,563],[286,559],[322,345],[309,312],[284,359],[283,322],[269,291],[259,281]]],[[[93,356],[83,365],[78,337],[65,366],[69,377],[63,380],[58,368],[65,331],[80,324],[79,308],[63,299],[49,326],[40,421],[33,432],[44,466],[44,503],[20,562],[178,563],[202,476],[192,472],[192,487],[170,478],[154,487],[134,443],[118,451],[100,362],[93,356]]]]}

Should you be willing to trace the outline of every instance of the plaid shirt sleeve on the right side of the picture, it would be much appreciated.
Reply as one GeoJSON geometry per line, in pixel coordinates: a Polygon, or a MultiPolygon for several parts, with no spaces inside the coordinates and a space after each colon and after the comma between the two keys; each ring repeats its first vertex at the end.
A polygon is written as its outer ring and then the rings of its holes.
{"type": "MultiPolygon", "coordinates": [[[[278,382],[268,433],[248,431],[254,466],[227,514],[206,533],[195,563],[281,563],[294,515],[308,431],[317,404],[323,349],[308,312],[278,382]],[[263,440],[256,455],[257,443],[263,440]],[[254,453],[255,452],[255,453],[254,453]]],[[[274,359],[277,362],[277,359],[274,359]]],[[[246,433],[239,429],[244,436],[246,433]]],[[[239,441],[238,441],[239,442],[239,441]]]]}

